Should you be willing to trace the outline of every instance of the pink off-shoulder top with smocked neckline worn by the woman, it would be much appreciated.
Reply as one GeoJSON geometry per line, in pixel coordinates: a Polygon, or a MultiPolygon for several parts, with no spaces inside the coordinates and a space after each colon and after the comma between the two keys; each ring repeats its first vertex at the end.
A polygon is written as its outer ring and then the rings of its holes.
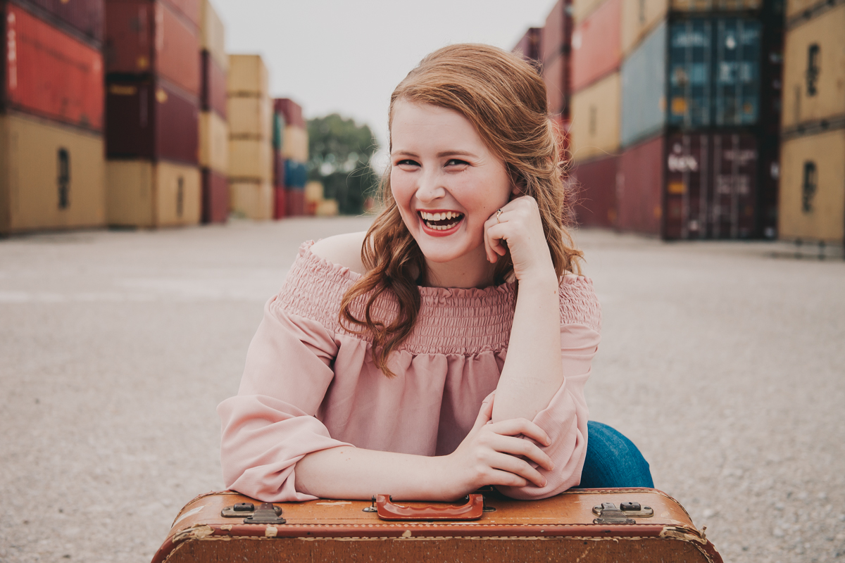
{"type": "MultiPolygon", "coordinates": [[[[472,429],[499,382],[514,316],[514,286],[421,287],[417,323],[390,356],[396,376],[373,365],[366,336],[338,322],[341,299],[361,275],[315,256],[305,243],[281,291],[264,307],[237,396],[217,408],[226,487],[261,501],[308,501],[297,462],[337,446],[441,456],[472,429]]],[[[586,455],[584,384],[599,343],[600,309],[589,279],[567,275],[560,295],[564,383],[534,419],[552,439],[547,485],[499,487],[518,499],[578,485],[586,455]]],[[[390,319],[394,298],[375,317],[390,319]]],[[[363,303],[352,307],[363,318],[363,303]]]]}

